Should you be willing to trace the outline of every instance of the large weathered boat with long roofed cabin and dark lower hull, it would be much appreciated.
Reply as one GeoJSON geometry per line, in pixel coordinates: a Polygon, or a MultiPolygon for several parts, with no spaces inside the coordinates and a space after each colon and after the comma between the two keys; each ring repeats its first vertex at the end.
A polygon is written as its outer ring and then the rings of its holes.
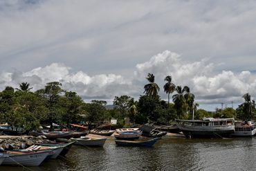
{"type": "Polygon", "coordinates": [[[176,120],[187,137],[221,137],[235,133],[234,118],[203,118],[203,120],[176,120]]]}

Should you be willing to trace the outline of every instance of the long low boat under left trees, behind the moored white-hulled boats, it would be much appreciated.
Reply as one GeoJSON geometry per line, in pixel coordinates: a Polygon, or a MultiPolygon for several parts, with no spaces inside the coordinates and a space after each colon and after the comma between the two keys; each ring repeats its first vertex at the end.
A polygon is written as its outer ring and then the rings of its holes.
{"type": "Polygon", "coordinates": [[[30,132],[32,136],[46,136],[50,140],[72,136],[73,132],[30,132]]]}

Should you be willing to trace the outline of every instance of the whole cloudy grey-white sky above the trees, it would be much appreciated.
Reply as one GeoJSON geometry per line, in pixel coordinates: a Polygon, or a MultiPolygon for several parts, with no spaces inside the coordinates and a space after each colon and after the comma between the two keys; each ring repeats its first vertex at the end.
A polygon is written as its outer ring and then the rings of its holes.
{"type": "Polygon", "coordinates": [[[155,75],[199,108],[256,96],[256,1],[0,0],[0,91],[61,82],[85,102],[138,100],[155,75]]]}

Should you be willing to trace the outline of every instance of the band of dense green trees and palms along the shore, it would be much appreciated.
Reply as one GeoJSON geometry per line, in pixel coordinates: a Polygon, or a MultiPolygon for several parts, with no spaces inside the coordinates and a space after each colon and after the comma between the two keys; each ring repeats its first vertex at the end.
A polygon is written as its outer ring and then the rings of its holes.
{"type": "Polygon", "coordinates": [[[86,123],[89,127],[117,118],[119,125],[125,124],[129,118],[132,124],[156,123],[170,124],[176,118],[201,119],[203,117],[237,118],[239,120],[255,120],[255,101],[246,93],[244,103],[237,109],[216,109],[214,112],[197,109],[195,96],[188,86],[176,86],[172,77],[167,75],[163,91],[167,93],[167,101],[158,96],[160,88],[149,73],[145,84],[145,95],[138,101],[123,95],[116,96],[113,108],[107,109],[104,100],[84,102],[77,93],[62,89],[60,82],[48,82],[43,89],[32,92],[28,82],[19,84],[19,88],[6,87],[0,91],[1,123],[8,123],[13,129],[22,127],[26,131],[37,129],[40,125],[68,126],[70,123],[86,123]],[[172,102],[170,102],[170,95],[172,102]]]}

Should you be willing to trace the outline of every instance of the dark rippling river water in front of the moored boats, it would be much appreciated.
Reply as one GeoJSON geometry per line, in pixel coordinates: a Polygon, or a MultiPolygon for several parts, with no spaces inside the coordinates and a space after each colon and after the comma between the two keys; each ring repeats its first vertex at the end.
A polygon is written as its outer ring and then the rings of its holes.
{"type": "Polygon", "coordinates": [[[255,152],[256,137],[164,136],[154,147],[121,147],[108,139],[104,147],[73,145],[66,159],[49,160],[39,167],[0,166],[0,170],[255,170],[255,152]]]}

